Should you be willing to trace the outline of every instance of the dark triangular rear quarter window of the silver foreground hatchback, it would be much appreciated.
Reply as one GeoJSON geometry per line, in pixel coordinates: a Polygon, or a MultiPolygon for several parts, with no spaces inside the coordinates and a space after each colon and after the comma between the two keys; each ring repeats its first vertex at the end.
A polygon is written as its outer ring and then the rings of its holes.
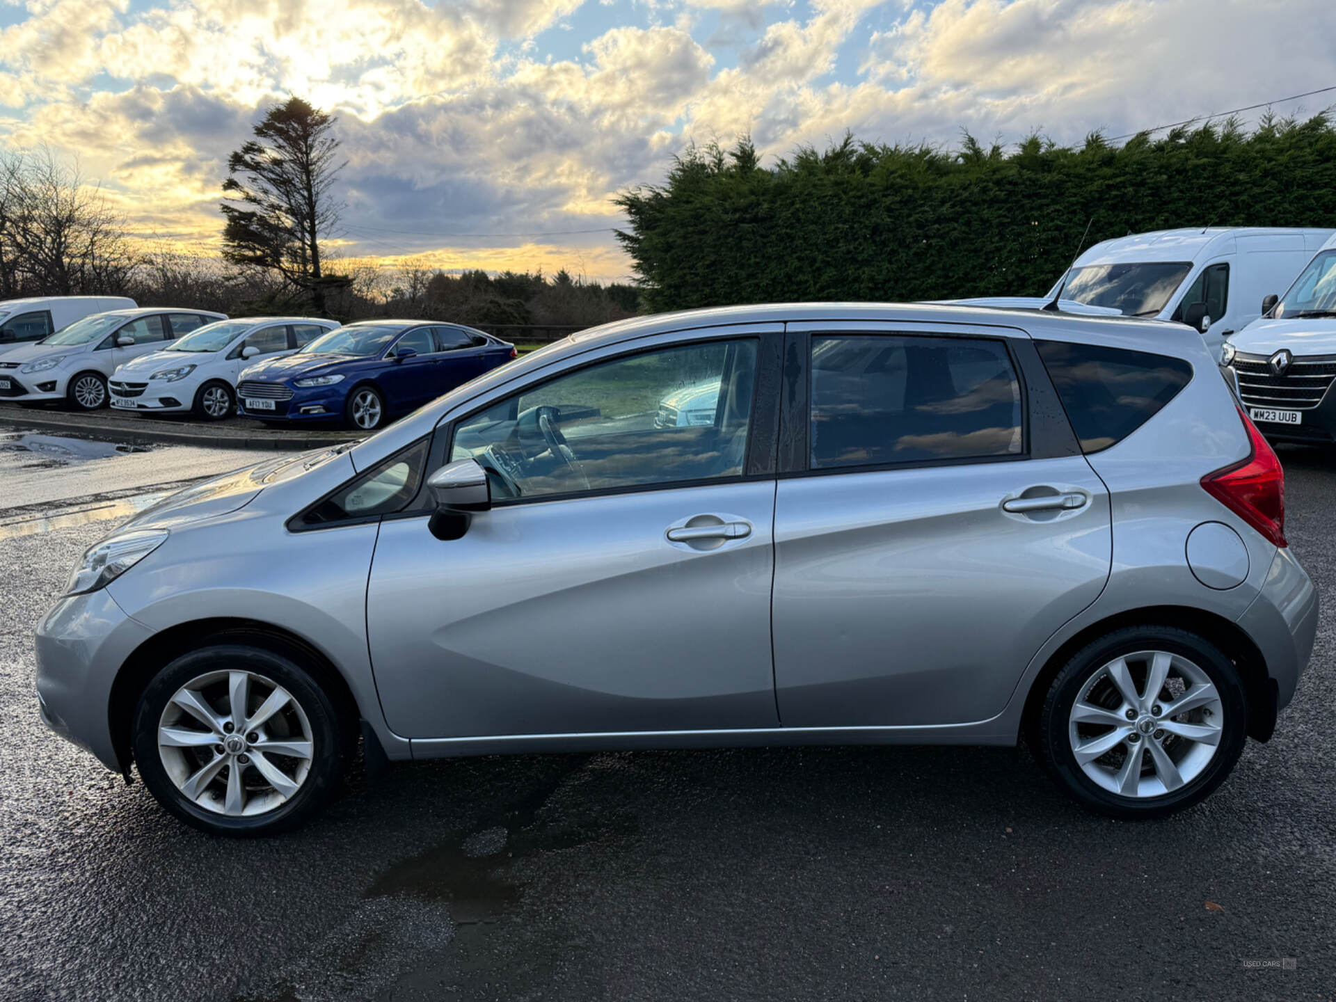
{"type": "Polygon", "coordinates": [[[1192,379],[1181,358],[1104,345],[1035,341],[1081,452],[1117,445],[1192,379]]]}

